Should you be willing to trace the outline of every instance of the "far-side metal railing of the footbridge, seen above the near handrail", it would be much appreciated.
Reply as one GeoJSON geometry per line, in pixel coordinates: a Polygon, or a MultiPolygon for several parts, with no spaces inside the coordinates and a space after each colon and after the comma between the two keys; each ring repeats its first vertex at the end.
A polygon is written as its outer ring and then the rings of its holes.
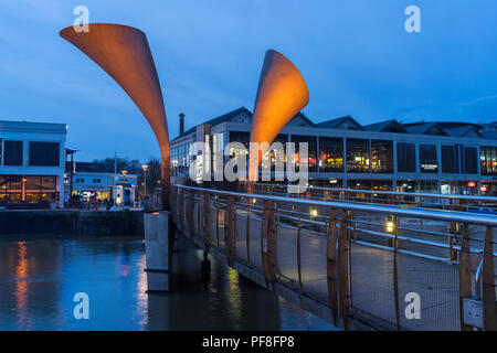
{"type": "Polygon", "coordinates": [[[275,196],[292,196],[297,199],[313,199],[320,201],[346,201],[367,204],[390,204],[410,208],[434,208],[447,211],[466,211],[497,215],[497,197],[478,195],[436,194],[420,192],[396,192],[384,190],[337,189],[321,186],[292,185],[294,191],[303,192],[289,194],[286,184],[242,184],[245,191],[275,196]]]}

